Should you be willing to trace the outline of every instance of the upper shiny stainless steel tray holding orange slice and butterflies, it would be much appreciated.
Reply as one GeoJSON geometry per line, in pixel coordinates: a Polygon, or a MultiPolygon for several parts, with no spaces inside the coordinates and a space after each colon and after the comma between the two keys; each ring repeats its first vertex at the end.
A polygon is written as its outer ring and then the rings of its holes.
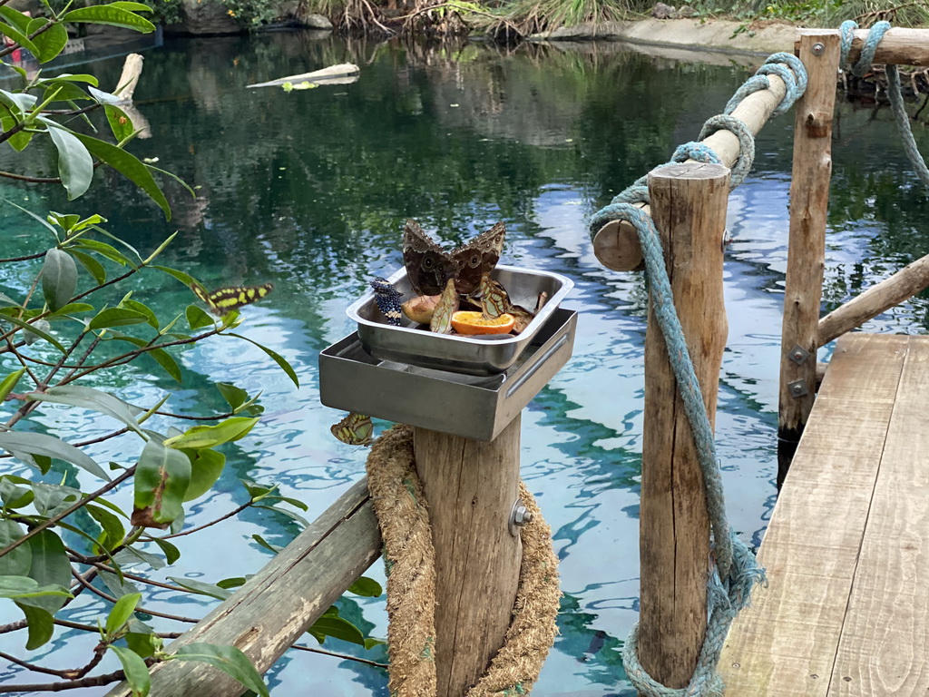
{"type": "MultiPolygon", "coordinates": [[[[373,358],[467,375],[503,373],[530,345],[532,337],[558,309],[574,283],[559,273],[501,264],[493,270],[492,276],[504,285],[514,305],[532,309],[540,293],[548,294],[548,302],[520,335],[471,337],[435,334],[417,329],[418,325],[406,317],[401,320],[406,322],[404,326],[393,326],[386,323],[377,308],[373,291],[348,306],[346,312],[358,322],[361,346],[373,358]]],[[[406,269],[400,269],[388,280],[405,297],[412,296],[406,269]]]]}

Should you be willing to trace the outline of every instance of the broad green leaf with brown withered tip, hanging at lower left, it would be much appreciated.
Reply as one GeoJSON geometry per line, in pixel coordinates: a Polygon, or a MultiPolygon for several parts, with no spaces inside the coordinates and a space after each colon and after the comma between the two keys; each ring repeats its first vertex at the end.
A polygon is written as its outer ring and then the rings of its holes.
{"type": "Polygon", "coordinates": [[[136,466],[135,509],[132,524],[164,527],[183,510],[190,485],[190,459],[174,448],[151,440],[136,466]]]}

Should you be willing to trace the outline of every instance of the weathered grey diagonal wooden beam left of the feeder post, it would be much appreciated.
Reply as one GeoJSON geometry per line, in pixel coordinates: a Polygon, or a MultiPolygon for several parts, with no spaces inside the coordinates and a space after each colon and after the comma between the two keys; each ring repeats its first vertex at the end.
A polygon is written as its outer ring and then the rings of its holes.
{"type": "MultiPolygon", "coordinates": [[[[199,641],[232,645],[264,673],[380,554],[381,533],[363,478],[167,651],[199,641]]],[[[236,697],[243,691],[207,664],[168,661],[151,669],[152,695],[236,697]]],[[[120,683],[106,697],[131,694],[120,683]]]]}

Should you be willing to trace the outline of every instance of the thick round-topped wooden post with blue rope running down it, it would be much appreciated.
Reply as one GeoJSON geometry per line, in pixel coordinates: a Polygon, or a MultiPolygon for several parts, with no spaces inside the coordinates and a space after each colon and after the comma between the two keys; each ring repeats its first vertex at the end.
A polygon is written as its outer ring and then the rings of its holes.
{"type": "MultiPolygon", "coordinates": [[[[661,167],[649,173],[648,191],[674,305],[713,423],[728,331],[723,235],[729,170],[720,164],[661,167]]],[[[710,525],[693,436],[650,303],[645,375],[638,655],[651,677],[683,688],[706,630],[710,525]]]]}

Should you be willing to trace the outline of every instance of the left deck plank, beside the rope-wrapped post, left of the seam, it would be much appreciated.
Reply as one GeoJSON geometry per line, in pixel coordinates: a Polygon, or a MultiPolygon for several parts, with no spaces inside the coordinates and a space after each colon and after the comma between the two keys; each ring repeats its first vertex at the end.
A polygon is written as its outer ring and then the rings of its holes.
{"type": "Polygon", "coordinates": [[[726,640],[726,695],[829,693],[908,346],[839,339],[761,546],[768,585],[726,640]]]}

